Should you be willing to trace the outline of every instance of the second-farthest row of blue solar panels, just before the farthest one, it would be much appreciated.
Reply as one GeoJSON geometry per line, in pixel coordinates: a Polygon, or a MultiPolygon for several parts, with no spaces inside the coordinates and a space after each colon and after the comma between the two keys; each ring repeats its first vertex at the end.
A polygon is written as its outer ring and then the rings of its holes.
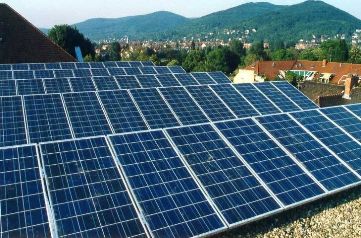
{"type": "Polygon", "coordinates": [[[102,68],[102,69],[55,69],[55,70],[17,70],[0,71],[0,80],[12,79],[43,79],[43,78],[71,78],[92,76],[117,75],[157,75],[183,74],[186,71],[180,66],[148,66],[141,68],[102,68]]]}

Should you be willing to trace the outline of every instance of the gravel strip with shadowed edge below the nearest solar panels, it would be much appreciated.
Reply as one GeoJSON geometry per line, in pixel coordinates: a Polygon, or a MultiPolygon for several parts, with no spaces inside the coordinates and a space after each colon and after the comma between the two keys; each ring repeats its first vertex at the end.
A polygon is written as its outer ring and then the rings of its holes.
{"type": "Polygon", "coordinates": [[[237,228],[221,237],[361,238],[361,188],[237,228]]]}

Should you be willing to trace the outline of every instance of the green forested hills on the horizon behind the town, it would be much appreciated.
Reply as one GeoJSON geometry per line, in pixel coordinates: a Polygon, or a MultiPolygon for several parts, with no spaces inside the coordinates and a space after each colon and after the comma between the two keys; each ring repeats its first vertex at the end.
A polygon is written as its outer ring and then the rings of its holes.
{"type": "Polygon", "coordinates": [[[361,28],[361,20],[322,1],[306,1],[291,6],[246,3],[193,19],[155,12],[118,19],[90,19],[75,26],[91,40],[124,36],[131,40],[182,39],[207,33],[220,37],[224,29],[256,29],[250,40],[296,41],[312,35],[351,35],[361,28]]]}

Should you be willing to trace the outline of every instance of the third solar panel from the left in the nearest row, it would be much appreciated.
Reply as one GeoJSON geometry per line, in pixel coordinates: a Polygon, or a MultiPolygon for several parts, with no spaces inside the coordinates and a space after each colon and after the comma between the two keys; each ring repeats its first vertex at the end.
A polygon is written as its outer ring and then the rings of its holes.
{"type": "Polygon", "coordinates": [[[193,237],[225,228],[162,131],[110,140],[154,237],[193,237]]]}

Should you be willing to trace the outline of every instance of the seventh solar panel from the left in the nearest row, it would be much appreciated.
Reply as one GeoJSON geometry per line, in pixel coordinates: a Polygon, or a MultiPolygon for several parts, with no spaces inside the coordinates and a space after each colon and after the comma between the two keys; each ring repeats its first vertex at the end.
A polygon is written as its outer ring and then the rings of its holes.
{"type": "Polygon", "coordinates": [[[361,144],[345,134],[318,111],[291,114],[324,145],[361,174],[361,144]]]}

